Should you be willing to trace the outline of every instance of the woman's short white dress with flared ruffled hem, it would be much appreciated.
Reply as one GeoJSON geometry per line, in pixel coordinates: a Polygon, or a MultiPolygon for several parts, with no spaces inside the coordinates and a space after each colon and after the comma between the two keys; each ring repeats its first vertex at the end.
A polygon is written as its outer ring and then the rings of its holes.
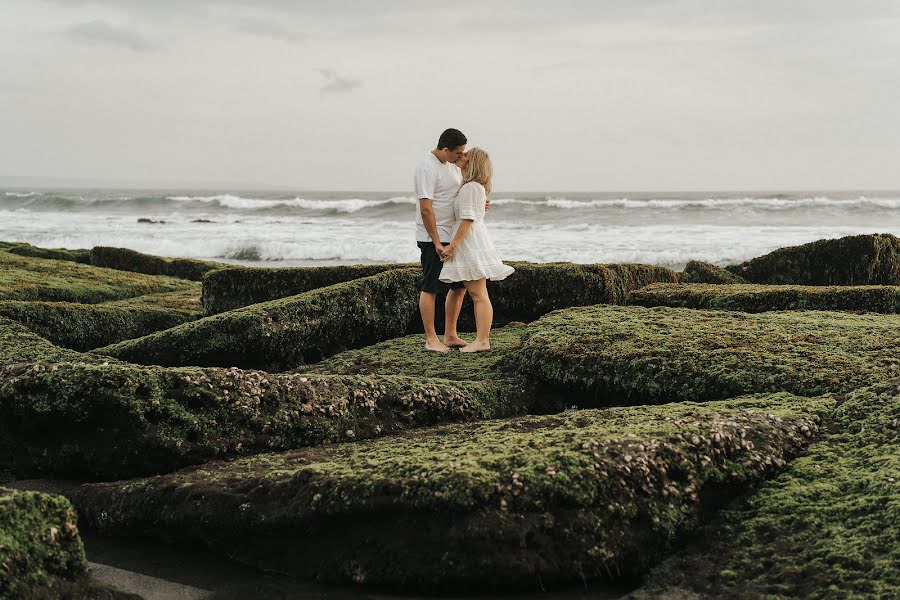
{"type": "MultiPolygon", "coordinates": [[[[459,188],[453,201],[453,213],[456,224],[451,236],[456,236],[463,219],[471,219],[472,226],[453,256],[444,261],[440,280],[444,283],[452,281],[477,281],[483,277],[491,281],[500,281],[509,277],[515,269],[504,265],[494,248],[484,226],[484,205],[487,193],[484,186],[477,181],[470,181],[459,188]]],[[[451,237],[451,240],[453,238],[451,237]]]]}

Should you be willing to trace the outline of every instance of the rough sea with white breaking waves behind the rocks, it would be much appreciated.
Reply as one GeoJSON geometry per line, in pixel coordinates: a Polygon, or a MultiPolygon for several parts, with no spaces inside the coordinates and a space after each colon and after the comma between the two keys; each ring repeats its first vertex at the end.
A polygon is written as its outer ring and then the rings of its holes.
{"type": "MultiPolygon", "coordinates": [[[[414,262],[408,193],[0,190],[0,241],[119,246],[257,266],[414,262]]],[[[492,194],[508,260],[741,262],[860,233],[900,236],[900,192],[492,194]]]]}

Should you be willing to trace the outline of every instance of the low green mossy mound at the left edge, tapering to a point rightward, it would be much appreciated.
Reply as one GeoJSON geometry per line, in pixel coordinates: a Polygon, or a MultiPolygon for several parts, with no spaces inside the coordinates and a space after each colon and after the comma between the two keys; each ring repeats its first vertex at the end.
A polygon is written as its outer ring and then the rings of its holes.
{"type": "Polygon", "coordinates": [[[184,280],[101,269],[0,250],[0,300],[96,304],[190,287],[184,280]]]}

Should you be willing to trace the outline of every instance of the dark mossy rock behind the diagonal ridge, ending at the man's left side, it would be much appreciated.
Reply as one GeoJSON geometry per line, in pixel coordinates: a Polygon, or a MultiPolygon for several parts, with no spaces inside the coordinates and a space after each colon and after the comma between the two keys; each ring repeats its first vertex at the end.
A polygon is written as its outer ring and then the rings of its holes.
{"type": "Polygon", "coordinates": [[[203,307],[217,314],[296,296],[311,290],[371,277],[414,264],[338,265],[329,267],[229,267],[203,276],[203,307]]]}

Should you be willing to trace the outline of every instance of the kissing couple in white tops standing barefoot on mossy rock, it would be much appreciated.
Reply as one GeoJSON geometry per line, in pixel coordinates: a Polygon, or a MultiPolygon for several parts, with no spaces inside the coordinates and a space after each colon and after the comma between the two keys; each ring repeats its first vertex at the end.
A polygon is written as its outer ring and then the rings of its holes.
{"type": "Polygon", "coordinates": [[[445,130],[415,172],[416,242],[422,255],[419,313],[425,349],[432,352],[490,350],[494,308],[487,280],[500,281],[514,271],[500,260],[484,226],[493,178],[491,157],[481,148],[467,152],[467,143],[458,129],[445,130]],[[438,290],[448,286],[441,341],[434,329],[435,299],[438,290]],[[456,331],[466,293],[475,306],[476,334],[469,343],[456,331]]]}

